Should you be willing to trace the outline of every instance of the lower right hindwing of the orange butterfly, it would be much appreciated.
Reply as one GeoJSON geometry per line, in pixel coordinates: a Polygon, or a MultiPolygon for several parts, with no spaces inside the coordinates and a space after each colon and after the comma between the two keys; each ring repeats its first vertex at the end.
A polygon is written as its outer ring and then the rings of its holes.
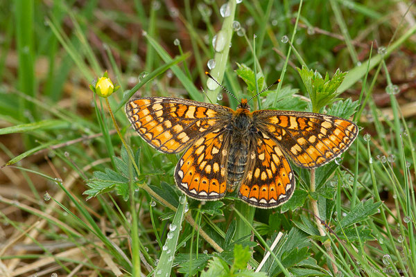
{"type": "Polygon", "coordinates": [[[291,198],[295,176],[281,149],[268,136],[255,135],[239,197],[252,206],[275,208],[291,198]]]}

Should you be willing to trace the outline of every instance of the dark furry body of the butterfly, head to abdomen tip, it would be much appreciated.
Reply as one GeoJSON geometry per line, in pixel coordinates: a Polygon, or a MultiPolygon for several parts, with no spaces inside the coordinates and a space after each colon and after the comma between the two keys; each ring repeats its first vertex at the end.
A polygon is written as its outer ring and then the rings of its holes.
{"type": "Polygon", "coordinates": [[[234,112],[229,129],[230,143],[227,158],[227,190],[232,192],[243,179],[248,163],[248,151],[251,137],[256,128],[253,125],[252,113],[247,100],[243,99],[234,112]]]}

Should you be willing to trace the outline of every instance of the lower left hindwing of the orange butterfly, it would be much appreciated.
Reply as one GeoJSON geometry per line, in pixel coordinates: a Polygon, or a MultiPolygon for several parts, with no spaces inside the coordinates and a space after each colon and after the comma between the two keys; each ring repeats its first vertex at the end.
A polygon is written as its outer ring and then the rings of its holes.
{"type": "MultiPolygon", "coordinates": [[[[226,123],[225,123],[226,125],[226,123]]],[[[192,198],[216,200],[226,190],[225,161],[229,136],[225,126],[196,140],[175,168],[177,186],[192,198]]]]}

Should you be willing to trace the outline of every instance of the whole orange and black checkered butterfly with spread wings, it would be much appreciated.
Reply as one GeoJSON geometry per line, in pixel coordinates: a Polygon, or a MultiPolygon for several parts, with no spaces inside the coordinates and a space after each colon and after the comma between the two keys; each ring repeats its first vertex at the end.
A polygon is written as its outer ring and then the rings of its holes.
{"type": "Polygon", "coordinates": [[[345,152],[358,134],[354,123],[336,116],[251,112],[246,99],[234,111],[194,100],[144,97],[130,100],[125,113],[156,150],[184,151],[175,168],[184,193],[217,200],[238,188],[243,201],[259,208],[275,208],[293,195],[295,176],[286,157],[302,168],[316,168],[345,152]]]}

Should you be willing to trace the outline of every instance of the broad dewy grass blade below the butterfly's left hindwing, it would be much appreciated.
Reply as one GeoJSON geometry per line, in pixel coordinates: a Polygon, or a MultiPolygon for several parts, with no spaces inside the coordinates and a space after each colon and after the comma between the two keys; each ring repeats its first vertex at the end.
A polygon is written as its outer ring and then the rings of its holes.
{"type": "Polygon", "coordinates": [[[183,201],[177,206],[175,217],[169,225],[170,231],[167,234],[166,242],[162,249],[159,262],[155,269],[155,276],[169,276],[171,274],[173,257],[175,256],[175,249],[177,248],[177,240],[181,233],[180,226],[184,220],[184,206],[187,202],[187,197],[182,197],[183,201]]]}

